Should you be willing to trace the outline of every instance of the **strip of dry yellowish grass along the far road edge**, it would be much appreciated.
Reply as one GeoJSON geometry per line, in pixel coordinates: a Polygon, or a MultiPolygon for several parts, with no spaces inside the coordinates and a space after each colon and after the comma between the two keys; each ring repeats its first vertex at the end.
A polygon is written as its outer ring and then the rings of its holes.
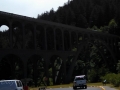
{"type": "MultiPolygon", "coordinates": [[[[72,87],[73,83],[70,84],[64,84],[64,85],[54,85],[54,86],[47,86],[47,88],[67,88],[67,87],[72,87]]],[[[102,86],[102,83],[87,83],[88,87],[89,86],[102,86]]],[[[39,87],[36,88],[30,88],[29,90],[38,90],[39,87]]]]}

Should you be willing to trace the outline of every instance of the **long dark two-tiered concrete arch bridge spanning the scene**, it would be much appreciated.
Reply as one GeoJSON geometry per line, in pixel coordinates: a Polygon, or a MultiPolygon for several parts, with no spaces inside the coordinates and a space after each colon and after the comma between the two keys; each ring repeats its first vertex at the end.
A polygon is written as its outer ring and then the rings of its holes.
{"type": "Polygon", "coordinates": [[[90,60],[93,47],[104,63],[112,62],[113,71],[120,59],[115,35],[0,11],[2,25],[9,29],[0,32],[0,79],[32,78],[37,85],[47,77],[47,84],[50,78],[53,84],[69,83],[76,62],[90,60]]]}

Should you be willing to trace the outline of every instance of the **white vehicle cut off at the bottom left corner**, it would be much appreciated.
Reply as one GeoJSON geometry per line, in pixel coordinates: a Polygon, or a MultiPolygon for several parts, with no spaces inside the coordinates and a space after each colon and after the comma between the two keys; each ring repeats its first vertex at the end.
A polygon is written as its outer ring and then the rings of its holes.
{"type": "Polygon", "coordinates": [[[24,90],[20,80],[0,80],[0,90],[24,90]]]}

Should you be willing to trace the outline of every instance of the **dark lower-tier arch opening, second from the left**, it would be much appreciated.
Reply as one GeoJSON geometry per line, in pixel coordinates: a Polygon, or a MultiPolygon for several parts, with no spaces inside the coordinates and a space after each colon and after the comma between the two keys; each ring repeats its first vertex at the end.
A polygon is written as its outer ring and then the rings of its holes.
{"type": "Polygon", "coordinates": [[[31,81],[28,83],[30,86],[44,85],[43,78],[45,76],[45,61],[39,55],[33,55],[29,58],[27,63],[28,78],[31,81]]]}

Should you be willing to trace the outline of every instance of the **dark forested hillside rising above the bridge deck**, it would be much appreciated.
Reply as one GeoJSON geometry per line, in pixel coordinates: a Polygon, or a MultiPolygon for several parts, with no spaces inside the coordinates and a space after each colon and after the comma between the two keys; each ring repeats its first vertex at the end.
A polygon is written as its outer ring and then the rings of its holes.
{"type": "Polygon", "coordinates": [[[51,9],[37,18],[119,35],[119,9],[120,0],[72,0],[57,11],[51,9]]]}

